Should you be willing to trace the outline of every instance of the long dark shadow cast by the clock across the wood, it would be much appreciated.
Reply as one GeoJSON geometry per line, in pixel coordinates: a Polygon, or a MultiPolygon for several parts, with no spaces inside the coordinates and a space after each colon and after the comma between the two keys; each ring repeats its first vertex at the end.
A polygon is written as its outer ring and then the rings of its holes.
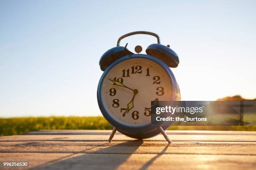
{"type": "MultiPolygon", "coordinates": [[[[133,153],[136,153],[139,147],[143,147],[143,140],[132,140],[125,142],[116,142],[118,144],[103,143],[97,146],[88,147],[77,153],[44,163],[42,165],[31,168],[31,170],[47,170],[58,167],[67,169],[117,169],[124,164],[133,153]],[[108,147],[109,146],[109,147],[108,147]],[[90,152],[90,150],[95,150],[90,152]],[[84,154],[86,153],[86,154],[84,154]],[[120,154],[122,153],[122,154],[120,154]],[[83,155],[78,155],[83,154],[83,155]]],[[[166,146],[159,154],[148,160],[140,170],[146,170],[154,161],[161,157],[168,146],[166,146]]]]}

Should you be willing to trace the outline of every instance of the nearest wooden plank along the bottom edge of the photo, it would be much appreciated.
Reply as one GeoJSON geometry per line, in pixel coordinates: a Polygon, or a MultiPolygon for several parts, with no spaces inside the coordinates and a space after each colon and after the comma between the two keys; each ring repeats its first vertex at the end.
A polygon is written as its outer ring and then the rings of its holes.
{"type": "Polygon", "coordinates": [[[181,154],[66,154],[1,153],[0,161],[29,161],[32,169],[92,170],[181,170],[232,169],[255,170],[256,156],[248,155],[181,155],[181,154]]]}

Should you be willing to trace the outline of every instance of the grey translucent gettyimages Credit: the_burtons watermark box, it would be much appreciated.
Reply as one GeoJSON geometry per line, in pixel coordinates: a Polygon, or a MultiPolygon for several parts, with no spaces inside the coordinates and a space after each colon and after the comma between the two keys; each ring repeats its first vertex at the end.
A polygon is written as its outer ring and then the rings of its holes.
{"type": "Polygon", "coordinates": [[[152,101],[151,123],[256,125],[256,101],[152,101]]]}

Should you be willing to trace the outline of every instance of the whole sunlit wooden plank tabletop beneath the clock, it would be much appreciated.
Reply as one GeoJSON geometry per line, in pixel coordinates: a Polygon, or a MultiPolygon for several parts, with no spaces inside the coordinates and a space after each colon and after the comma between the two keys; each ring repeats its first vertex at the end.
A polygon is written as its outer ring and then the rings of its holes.
{"type": "Polygon", "coordinates": [[[110,133],[40,130],[3,136],[0,161],[29,161],[29,168],[45,170],[256,169],[256,132],[167,131],[170,145],[162,135],[134,140],[120,133],[108,143],[110,133]]]}

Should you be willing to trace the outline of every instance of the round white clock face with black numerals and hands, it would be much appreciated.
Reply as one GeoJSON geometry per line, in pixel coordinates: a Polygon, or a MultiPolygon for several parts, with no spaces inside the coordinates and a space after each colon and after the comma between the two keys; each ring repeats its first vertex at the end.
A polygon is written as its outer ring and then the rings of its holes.
{"type": "Polygon", "coordinates": [[[151,101],[170,100],[172,84],[153,60],[131,58],[111,68],[102,80],[101,100],[108,114],[130,126],[151,123],[151,101]]]}

